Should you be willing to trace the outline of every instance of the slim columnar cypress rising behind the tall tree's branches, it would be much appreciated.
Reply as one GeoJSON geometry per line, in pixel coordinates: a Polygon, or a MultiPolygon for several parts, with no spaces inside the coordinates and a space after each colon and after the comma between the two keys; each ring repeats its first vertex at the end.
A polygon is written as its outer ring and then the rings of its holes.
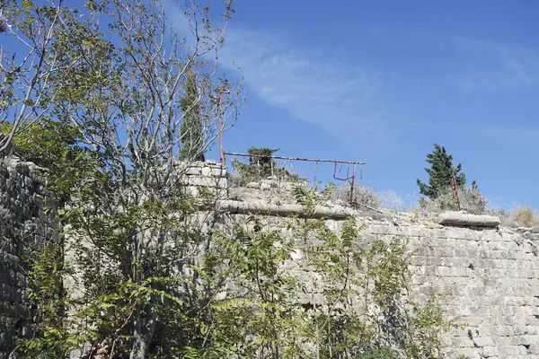
{"type": "Polygon", "coordinates": [[[204,161],[204,138],[202,119],[200,118],[199,91],[197,89],[197,74],[188,68],[185,83],[185,93],[181,98],[180,136],[183,145],[180,151],[181,160],[204,161]]]}

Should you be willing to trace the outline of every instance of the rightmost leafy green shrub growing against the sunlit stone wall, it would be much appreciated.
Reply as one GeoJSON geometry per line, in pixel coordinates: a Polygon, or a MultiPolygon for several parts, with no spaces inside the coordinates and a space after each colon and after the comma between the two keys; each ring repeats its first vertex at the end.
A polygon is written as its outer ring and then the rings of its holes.
{"type": "MultiPolygon", "coordinates": [[[[320,200],[312,188],[296,188],[295,197],[306,213],[320,200]]],[[[306,265],[321,278],[317,292],[323,293],[304,333],[314,341],[314,357],[438,357],[439,334],[455,323],[444,320],[436,297],[424,305],[404,297],[411,263],[406,241],[376,240],[362,247],[354,218],[343,223],[340,235],[323,220],[296,219],[294,228],[296,243],[316,240],[302,248],[306,265]]]]}

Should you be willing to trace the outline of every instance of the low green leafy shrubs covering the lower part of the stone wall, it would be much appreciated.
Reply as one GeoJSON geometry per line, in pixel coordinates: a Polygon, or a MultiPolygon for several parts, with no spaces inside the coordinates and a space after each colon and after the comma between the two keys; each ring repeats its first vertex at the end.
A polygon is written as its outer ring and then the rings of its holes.
{"type": "MultiPolygon", "coordinates": [[[[298,190],[296,196],[304,206],[314,206],[318,198],[314,190],[298,190]]],[[[87,294],[77,301],[73,320],[57,315],[57,302],[40,304],[49,308],[43,311],[48,316],[43,321],[48,323],[48,334],[39,341],[22,341],[21,352],[27,357],[38,352],[63,357],[84,341],[91,344],[92,353],[108,348],[108,353],[128,356],[136,340],[130,323],[138,311],[144,311],[158,319],[152,340],[158,352],[148,357],[391,359],[400,357],[397,353],[418,359],[437,357],[439,334],[448,324],[436,301],[419,305],[402,300],[409,283],[410,254],[405,244],[375,241],[360,247],[360,228],[351,218],[343,223],[340,235],[323,221],[298,222],[297,233],[306,232],[317,240],[305,266],[321,279],[314,289],[322,293],[322,302],[312,302],[305,311],[299,305],[305,278],[287,269],[300,237],[287,239],[280,232],[267,231],[256,218],[236,228],[232,236],[214,232],[208,237],[190,222],[194,210],[190,205],[172,208],[146,202],[114,216],[66,211],[63,218],[71,223],[71,234],[88,239],[75,243],[73,268],[87,294]],[[181,241],[181,245],[163,252],[168,260],[155,262],[152,252],[160,241],[152,241],[135,267],[126,266],[133,263],[129,233],[139,226],[149,228],[146,238],[167,233],[167,241],[181,241]],[[211,246],[199,252],[201,262],[186,255],[207,241],[211,246]],[[184,259],[171,260],[178,257],[184,259]],[[181,270],[172,275],[171,268],[163,267],[167,262],[180,263],[181,270]],[[156,263],[160,263],[152,272],[156,276],[140,277],[147,273],[144,268],[156,263]]],[[[62,263],[59,258],[44,258],[33,272],[32,283],[39,288],[36,298],[56,293],[58,279],[66,275],[66,267],[55,269],[62,263]],[[44,281],[45,273],[54,276],[44,281]]],[[[63,301],[59,308],[69,306],[66,297],[57,298],[63,301]]]]}

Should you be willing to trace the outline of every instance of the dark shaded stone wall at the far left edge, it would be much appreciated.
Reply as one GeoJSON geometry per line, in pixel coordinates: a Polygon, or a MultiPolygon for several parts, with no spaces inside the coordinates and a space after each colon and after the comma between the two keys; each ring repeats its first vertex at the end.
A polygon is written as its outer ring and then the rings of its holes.
{"type": "Polygon", "coordinates": [[[38,172],[31,162],[0,160],[0,359],[31,334],[24,258],[53,235],[38,172]]]}

